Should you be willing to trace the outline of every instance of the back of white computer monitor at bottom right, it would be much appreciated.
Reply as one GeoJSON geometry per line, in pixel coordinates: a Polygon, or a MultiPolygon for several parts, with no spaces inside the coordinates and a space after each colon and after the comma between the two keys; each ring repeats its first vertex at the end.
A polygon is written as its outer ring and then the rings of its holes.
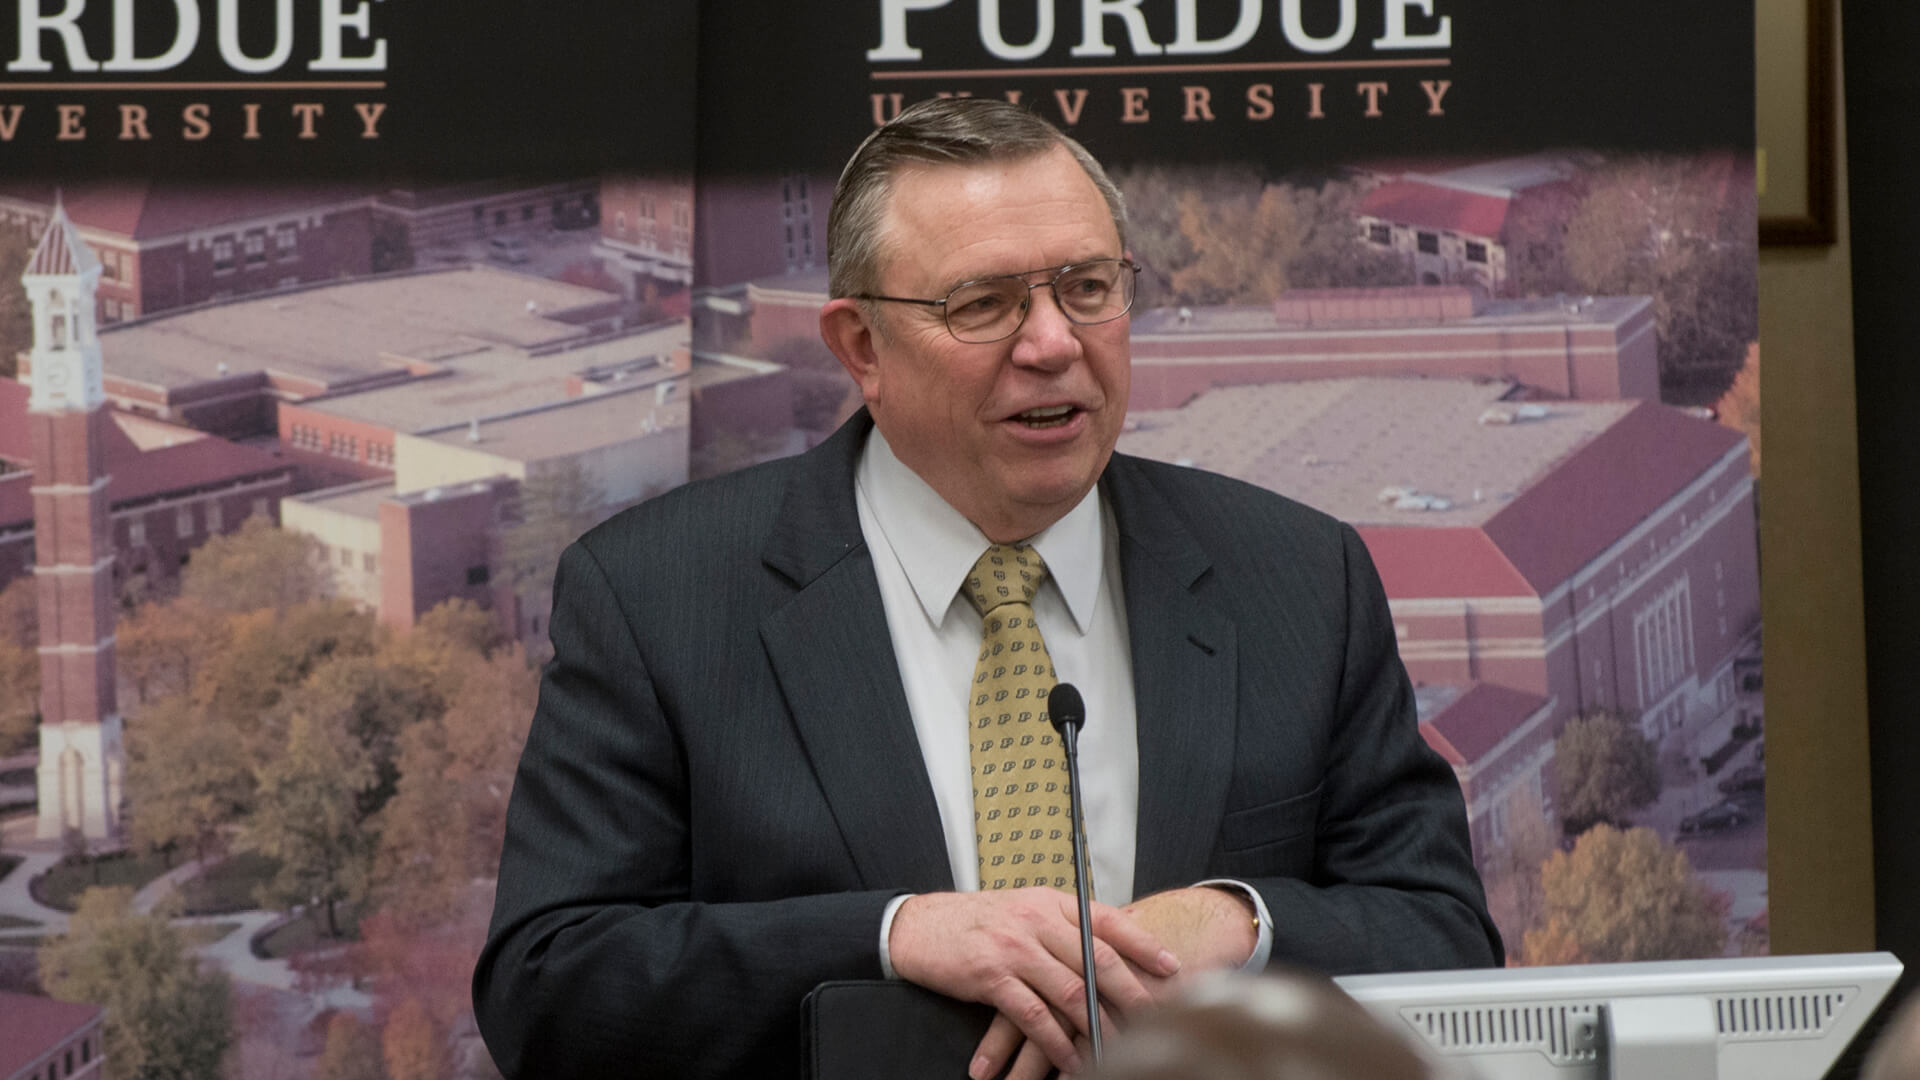
{"type": "Polygon", "coordinates": [[[1899,974],[1841,953],[1334,982],[1478,1080],[1820,1080],[1899,974]]]}

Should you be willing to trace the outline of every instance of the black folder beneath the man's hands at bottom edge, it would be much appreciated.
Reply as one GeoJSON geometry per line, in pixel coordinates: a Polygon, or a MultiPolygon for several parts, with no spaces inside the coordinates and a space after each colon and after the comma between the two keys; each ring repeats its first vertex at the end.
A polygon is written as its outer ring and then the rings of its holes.
{"type": "Polygon", "coordinates": [[[962,1080],[993,1005],[912,982],[822,982],[801,1003],[810,1080],[962,1080]]]}

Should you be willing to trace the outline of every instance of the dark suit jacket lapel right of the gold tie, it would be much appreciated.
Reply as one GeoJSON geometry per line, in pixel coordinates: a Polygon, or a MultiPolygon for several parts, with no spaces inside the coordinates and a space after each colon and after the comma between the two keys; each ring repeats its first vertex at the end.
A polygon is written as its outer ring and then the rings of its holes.
{"type": "Polygon", "coordinates": [[[1133,894],[1206,876],[1233,776],[1236,638],[1194,598],[1212,559],[1137,463],[1114,455],[1106,492],[1121,582],[1140,748],[1133,894]]]}

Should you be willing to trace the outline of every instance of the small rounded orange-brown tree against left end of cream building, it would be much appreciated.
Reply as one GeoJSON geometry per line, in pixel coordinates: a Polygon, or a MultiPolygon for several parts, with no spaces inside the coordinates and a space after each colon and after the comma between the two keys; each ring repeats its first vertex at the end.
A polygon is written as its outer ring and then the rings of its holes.
{"type": "Polygon", "coordinates": [[[265,515],[202,544],[180,575],[180,596],[211,611],[286,611],[330,594],[319,542],[265,515]]]}

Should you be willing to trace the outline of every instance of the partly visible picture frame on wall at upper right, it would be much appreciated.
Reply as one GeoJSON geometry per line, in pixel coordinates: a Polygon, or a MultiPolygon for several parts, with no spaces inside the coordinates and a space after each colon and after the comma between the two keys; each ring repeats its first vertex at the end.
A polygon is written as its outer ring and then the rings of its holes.
{"type": "Polygon", "coordinates": [[[1834,19],[1832,0],[1755,0],[1763,246],[1836,238],[1834,19]]]}

